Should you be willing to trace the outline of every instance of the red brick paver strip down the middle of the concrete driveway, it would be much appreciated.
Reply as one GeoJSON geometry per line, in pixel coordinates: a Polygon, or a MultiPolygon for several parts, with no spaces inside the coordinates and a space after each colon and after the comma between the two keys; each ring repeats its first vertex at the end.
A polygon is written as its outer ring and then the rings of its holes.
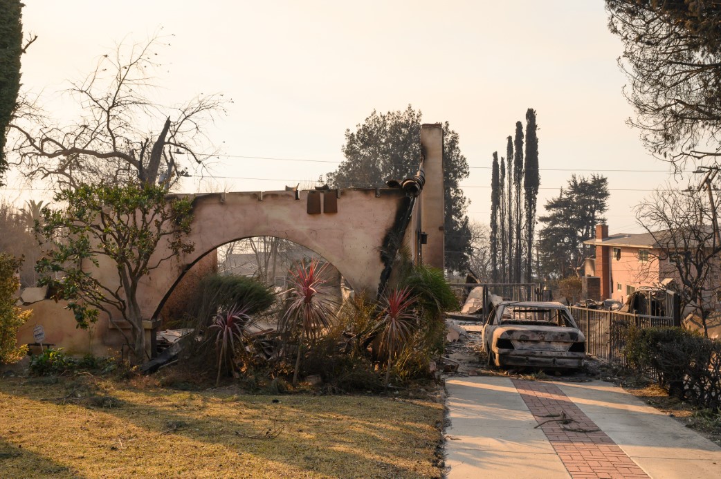
{"type": "Polygon", "coordinates": [[[552,421],[541,426],[572,478],[648,478],[603,431],[568,430],[593,430],[598,426],[557,385],[516,379],[513,385],[539,424],[563,413],[573,420],[569,424],[552,421]]]}

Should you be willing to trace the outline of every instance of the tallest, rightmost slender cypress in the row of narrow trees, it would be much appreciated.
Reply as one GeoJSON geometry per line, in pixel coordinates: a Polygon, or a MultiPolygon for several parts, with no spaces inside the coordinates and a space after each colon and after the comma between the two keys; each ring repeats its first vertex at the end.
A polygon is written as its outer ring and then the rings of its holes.
{"type": "Polygon", "coordinates": [[[539,174],[539,138],[537,135],[536,111],[526,111],[526,166],[523,176],[523,189],[526,193],[526,282],[531,282],[532,251],[534,229],[536,226],[536,200],[539,194],[541,175],[539,174]]]}

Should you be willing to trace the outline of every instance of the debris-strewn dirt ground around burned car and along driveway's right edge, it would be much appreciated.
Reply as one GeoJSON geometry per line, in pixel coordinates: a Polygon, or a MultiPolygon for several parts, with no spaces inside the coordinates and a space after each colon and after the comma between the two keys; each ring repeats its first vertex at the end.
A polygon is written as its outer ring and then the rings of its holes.
{"type": "Polygon", "coordinates": [[[444,355],[446,377],[500,375],[526,380],[545,379],[567,382],[603,380],[611,382],[721,446],[721,413],[699,409],[677,398],[670,397],[663,388],[645,377],[639,377],[627,371],[609,367],[609,365],[593,358],[586,361],[583,370],[565,375],[557,372],[534,370],[489,369],[478,324],[456,323],[461,328],[467,328],[469,331],[467,331],[466,337],[461,336],[459,341],[448,344],[444,355]]]}

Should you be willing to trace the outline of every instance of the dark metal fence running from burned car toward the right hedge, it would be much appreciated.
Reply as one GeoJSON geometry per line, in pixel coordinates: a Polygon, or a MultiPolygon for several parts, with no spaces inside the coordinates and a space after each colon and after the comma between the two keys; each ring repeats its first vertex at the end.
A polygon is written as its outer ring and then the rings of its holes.
{"type": "Polygon", "coordinates": [[[651,316],[619,311],[569,308],[586,339],[586,352],[611,364],[626,364],[626,330],[674,326],[670,316],[651,316]]]}

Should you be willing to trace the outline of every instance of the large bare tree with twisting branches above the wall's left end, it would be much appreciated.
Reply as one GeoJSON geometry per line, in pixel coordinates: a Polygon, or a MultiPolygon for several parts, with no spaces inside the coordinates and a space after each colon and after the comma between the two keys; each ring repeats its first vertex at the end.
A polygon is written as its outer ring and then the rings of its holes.
{"type": "Polygon", "coordinates": [[[179,155],[201,164],[203,129],[224,112],[222,95],[200,96],[166,107],[149,98],[161,39],[118,45],[102,55],[92,73],[71,83],[68,94],[81,109],[66,125],[50,119],[27,95],[10,124],[16,164],[28,178],[48,178],[66,187],[139,179],[172,184],[187,170],[179,155]],[[151,126],[155,125],[155,126],[151,126]]]}

